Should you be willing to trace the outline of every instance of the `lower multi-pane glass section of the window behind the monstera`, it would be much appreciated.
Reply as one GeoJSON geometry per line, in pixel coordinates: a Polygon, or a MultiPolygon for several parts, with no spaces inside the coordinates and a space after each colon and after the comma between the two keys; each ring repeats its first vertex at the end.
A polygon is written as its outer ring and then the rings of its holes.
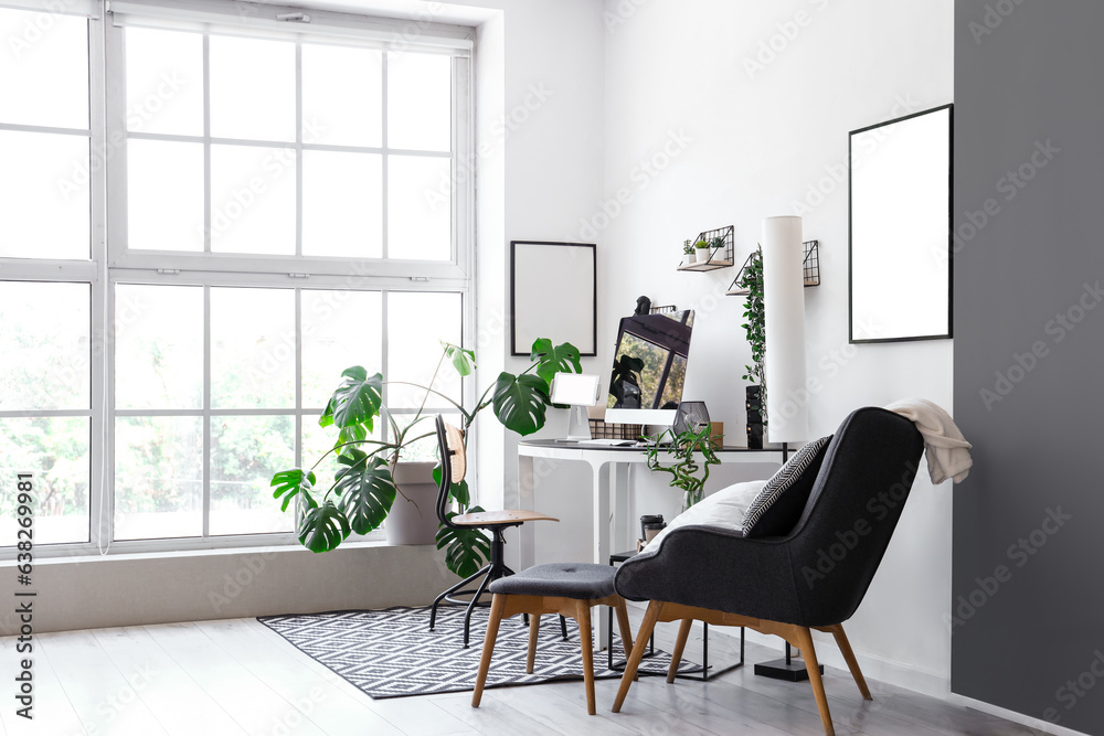
{"type": "MultiPolygon", "coordinates": [[[[397,344],[400,355],[422,359],[428,350],[439,350],[439,340],[459,342],[463,332],[460,292],[120,282],[115,299],[117,316],[119,305],[130,305],[129,323],[116,326],[117,345],[128,345],[127,355],[118,348],[116,352],[132,364],[117,369],[117,382],[127,371],[144,375],[132,380],[134,395],[162,384],[187,385],[198,371],[203,396],[198,407],[124,407],[135,399],[127,399],[127,390],[116,384],[116,541],[290,535],[293,518],[277,513],[268,479],[293,465],[312,466],[333,440],[332,429],[317,426],[322,407],[305,404],[325,404],[340,372],[353,364],[370,374],[394,372],[402,380],[425,383],[425,365],[412,369],[407,359],[386,363],[389,345],[397,344]],[[201,294],[202,299],[194,301],[187,292],[201,294]],[[187,303],[200,306],[171,322],[177,312],[189,311],[187,303]],[[384,305],[395,310],[390,322],[384,305]],[[282,328],[282,314],[293,316],[294,323],[282,328]],[[195,344],[180,342],[180,335],[192,330],[189,321],[203,326],[202,349],[181,349],[195,344]],[[147,322],[171,323],[173,329],[146,340],[147,322]],[[202,353],[199,369],[188,367],[193,352],[202,353]],[[152,373],[134,372],[150,361],[152,373]],[[285,394],[287,401],[269,402],[283,391],[280,375],[288,375],[294,390],[285,394]],[[276,384],[264,384],[273,376],[276,384]],[[258,386],[261,394],[255,393],[258,386]],[[308,437],[311,446],[305,448],[308,437]],[[149,458],[157,462],[146,461],[149,458]]],[[[459,382],[445,377],[450,370],[446,363],[434,387],[459,401],[459,382]]],[[[390,396],[385,401],[395,401],[393,386],[385,384],[383,391],[390,396]]],[[[411,391],[418,396],[392,410],[400,425],[418,410],[421,393],[411,391]]],[[[187,402],[189,395],[177,392],[171,401],[187,402]]],[[[455,414],[455,407],[431,396],[423,417],[437,413],[455,414]]],[[[432,429],[428,423],[425,428],[432,429]]],[[[390,422],[380,420],[376,437],[390,436],[390,422]]],[[[423,458],[432,449],[423,441],[407,455],[423,458]]],[[[333,472],[332,461],[323,466],[320,478],[329,481],[323,487],[320,480],[322,491],[332,483],[333,472]]]]}

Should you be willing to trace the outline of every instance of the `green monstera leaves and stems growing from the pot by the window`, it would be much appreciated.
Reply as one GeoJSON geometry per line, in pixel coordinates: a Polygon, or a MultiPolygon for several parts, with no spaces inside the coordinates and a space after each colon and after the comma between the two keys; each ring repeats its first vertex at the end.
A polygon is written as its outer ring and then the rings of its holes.
{"type": "MultiPolygon", "coordinates": [[[[454,401],[433,388],[442,370],[453,370],[460,376],[470,375],[476,367],[475,353],[459,345],[442,343],[440,359],[427,386],[402,381],[384,381],[383,375],[368,375],[359,365],[341,374],[341,383],[326,404],[318,424],[336,427],[333,447],[310,468],[291,468],[273,477],[273,498],[280,501],[286,512],[297,514],[298,536],[302,546],[311,552],[329,552],[355,532],[367,534],[388,518],[395,498],[403,495],[395,484],[393,471],[403,457],[403,450],[414,442],[434,436],[425,406],[431,395],[450,404],[460,415],[460,429],[467,429],[476,416],[490,407],[498,420],[519,435],[531,435],[544,426],[545,414],[552,405],[549,397],[552,376],[556,373],[582,371],[578,350],[571,343],[553,345],[541,339],[533,343],[529,367],[519,374],[500,373],[470,407],[454,401]],[[446,367],[447,366],[447,367],[446,367]],[[413,422],[405,427],[395,420],[383,403],[383,386],[401,384],[425,392],[422,405],[413,422]],[[388,426],[388,439],[372,439],[376,420],[388,426]],[[329,488],[316,486],[315,470],[326,460],[337,465],[335,481],[329,488]],[[298,497],[297,503],[293,500],[298,497]]],[[[440,468],[434,471],[439,481],[440,468]]],[[[471,505],[467,482],[453,483],[449,489],[457,511],[449,514],[482,511],[471,505]]],[[[407,499],[408,500],[408,499],[407,499]]],[[[437,531],[437,548],[446,548],[448,568],[460,576],[478,570],[490,555],[487,537],[476,529],[448,529],[437,531]]]]}

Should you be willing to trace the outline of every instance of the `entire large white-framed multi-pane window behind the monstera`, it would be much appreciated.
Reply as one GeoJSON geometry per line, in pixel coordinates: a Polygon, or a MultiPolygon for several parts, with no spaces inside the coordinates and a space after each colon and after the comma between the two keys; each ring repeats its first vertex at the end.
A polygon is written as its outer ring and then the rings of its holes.
{"type": "Polygon", "coordinates": [[[0,9],[0,486],[64,551],[291,542],[340,372],[470,332],[470,34],[114,6],[0,9]]]}

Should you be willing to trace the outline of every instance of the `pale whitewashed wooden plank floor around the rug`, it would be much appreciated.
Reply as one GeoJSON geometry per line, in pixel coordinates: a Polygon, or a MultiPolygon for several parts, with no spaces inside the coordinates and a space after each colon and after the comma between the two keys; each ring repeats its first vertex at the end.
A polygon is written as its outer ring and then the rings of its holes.
{"type": "MultiPolygon", "coordinates": [[[[639,616],[634,617],[634,628],[639,616]]],[[[700,629],[687,659],[700,652],[700,629]]],[[[670,650],[673,625],[658,630],[670,650]]],[[[735,639],[712,636],[723,661],[735,639]]],[[[0,640],[11,683],[15,641],[0,640]]],[[[774,659],[747,646],[749,663],[774,659]]],[[[745,666],[710,683],[643,678],[624,711],[609,713],[617,681],[597,683],[587,716],[581,682],[373,701],[253,619],[51,633],[39,637],[34,722],[14,715],[10,695],[0,732],[15,736],[181,734],[287,736],[370,734],[822,734],[808,683],[757,678],[745,666]]],[[[850,675],[828,668],[825,686],[837,734],[1033,734],[1007,721],[870,681],[863,702],[850,675]]],[[[10,687],[10,685],[9,685],[10,687]]]]}

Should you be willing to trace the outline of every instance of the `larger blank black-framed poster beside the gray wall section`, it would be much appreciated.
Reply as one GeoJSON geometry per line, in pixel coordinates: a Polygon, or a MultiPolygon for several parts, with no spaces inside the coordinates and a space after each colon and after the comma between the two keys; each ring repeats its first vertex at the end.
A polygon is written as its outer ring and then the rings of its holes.
{"type": "Polygon", "coordinates": [[[952,337],[954,106],[848,140],[851,343],[952,337]]]}

